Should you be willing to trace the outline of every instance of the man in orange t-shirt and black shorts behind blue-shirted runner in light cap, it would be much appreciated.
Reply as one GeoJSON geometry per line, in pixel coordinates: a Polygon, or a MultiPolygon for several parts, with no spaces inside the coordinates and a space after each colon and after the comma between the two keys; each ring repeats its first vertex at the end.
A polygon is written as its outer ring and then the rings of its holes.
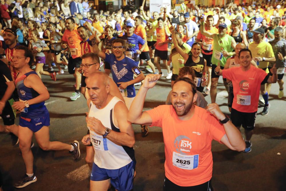
{"type": "MultiPolygon", "coordinates": [[[[140,54],[140,60],[145,60],[146,63],[150,66],[150,68],[152,69],[152,72],[155,73],[155,66],[154,64],[151,62],[150,60],[150,54],[149,54],[149,47],[147,45],[147,35],[146,35],[146,30],[145,28],[142,26],[142,22],[143,19],[140,16],[136,16],[134,19],[135,22],[135,29],[134,29],[134,34],[137,34],[138,36],[140,36],[141,38],[143,38],[145,40],[146,46],[144,48],[144,50],[141,52],[140,54]]],[[[141,44],[139,44],[139,49],[142,47],[141,44]]]]}

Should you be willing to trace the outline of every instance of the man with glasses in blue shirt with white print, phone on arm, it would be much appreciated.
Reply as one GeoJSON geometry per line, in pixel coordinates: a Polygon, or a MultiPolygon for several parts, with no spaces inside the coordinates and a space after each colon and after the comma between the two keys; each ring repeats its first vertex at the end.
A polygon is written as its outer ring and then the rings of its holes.
{"type": "Polygon", "coordinates": [[[129,109],[135,97],[133,84],[141,82],[145,76],[142,71],[139,70],[138,62],[124,55],[124,51],[126,50],[125,40],[115,39],[112,42],[112,54],[99,51],[96,44],[92,48],[95,54],[98,54],[105,62],[110,64],[112,78],[117,84],[124,102],[129,109]],[[135,70],[138,71],[138,73],[136,73],[137,78],[133,79],[133,72],[135,72],[135,70]]]}

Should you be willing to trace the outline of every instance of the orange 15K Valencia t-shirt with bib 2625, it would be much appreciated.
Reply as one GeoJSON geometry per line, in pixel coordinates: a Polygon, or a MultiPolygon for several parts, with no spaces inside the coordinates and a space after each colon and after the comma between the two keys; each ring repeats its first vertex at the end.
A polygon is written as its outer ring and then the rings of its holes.
{"type": "Polygon", "coordinates": [[[205,109],[194,106],[191,119],[178,119],[172,105],[146,111],[152,126],[162,127],[165,176],[179,186],[196,186],[212,178],[212,140],[221,142],[223,125],[205,109]]]}

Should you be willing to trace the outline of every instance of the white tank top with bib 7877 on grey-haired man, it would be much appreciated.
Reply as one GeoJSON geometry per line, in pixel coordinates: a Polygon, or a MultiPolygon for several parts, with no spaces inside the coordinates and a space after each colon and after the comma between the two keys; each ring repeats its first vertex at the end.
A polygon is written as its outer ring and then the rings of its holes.
{"type": "MultiPolygon", "coordinates": [[[[118,97],[113,97],[103,109],[97,109],[91,102],[88,117],[95,117],[101,121],[104,127],[120,132],[120,129],[113,122],[113,109],[119,101],[121,100],[118,97]]],[[[117,145],[108,138],[104,139],[102,135],[91,131],[90,127],[88,129],[90,130],[90,140],[95,151],[94,163],[100,168],[119,169],[135,160],[133,148],[117,145]]]]}

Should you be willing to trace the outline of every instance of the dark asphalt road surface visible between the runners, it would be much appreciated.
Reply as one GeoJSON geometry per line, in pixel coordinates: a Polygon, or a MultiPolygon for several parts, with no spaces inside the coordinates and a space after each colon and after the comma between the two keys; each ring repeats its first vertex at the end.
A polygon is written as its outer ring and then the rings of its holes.
{"type": "MultiPolygon", "coordinates": [[[[163,71],[166,74],[166,70],[163,71]]],[[[84,96],[77,101],[69,100],[75,80],[66,72],[58,75],[56,82],[48,76],[43,76],[43,82],[50,93],[50,99],[46,101],[51,117],[50,140],[71,143],[75,139],[80,141],[86,135],[85,112],[88,110],[84,96]]],[[[136,90],[139,87],[136,86],[136,90]]],[[[164,104],[170,89],[170,80],[162,77],[156,86],[148,91],[144,109],[164,104]]],[[[269,114],[257,115],[250,153],[231,151],[213,141],[212,186],[215,190],[285,190],[286,97],[278,99],[278,89],[278,84],[273,84],[269,96],[271,103],[269,114]]],[[[217,103],[224,113],[229,114],[227,92],[224,90],[222,79],[219,80],[218,90],[217,103]]],[[[210,103],[210,96],[205,98],[210,103]]],[[[258,113],[262,109],[260,107],[258,113]]],[[[133,127],[137,160],[134,191],[162,190],[165,160],[162,131],[159,127],[151,127],[149,135],[142,138],[140,126],[133,127]]],[[[21,152],[18,146],[13,146],[13,139],[15,138],[11,135],[0,134],[0,170],[4,191],[17,190],[12,185],[25,174],[21,152]]],[[[33,141],[35,142],[35,139],[33,141]]],[[[38,181],[21,190],[89,190],[90,172],[84,159],[86,150],[84,145],[80,145],[80,148],[80,160],[74,161],[67,151],[43,151],[35,143],[32,151],[34,171],[38,181]]]]}

